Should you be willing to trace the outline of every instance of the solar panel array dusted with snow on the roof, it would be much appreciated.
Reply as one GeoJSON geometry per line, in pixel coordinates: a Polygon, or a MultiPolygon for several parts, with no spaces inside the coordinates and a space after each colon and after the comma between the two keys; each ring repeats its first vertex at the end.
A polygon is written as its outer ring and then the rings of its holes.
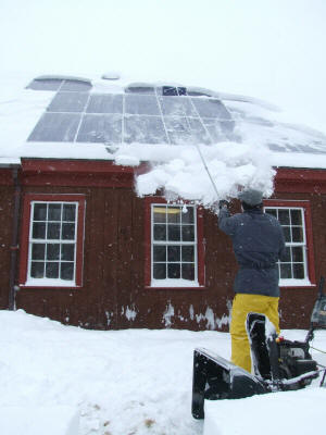
{"type": "Polygon", "coordinates": [[[88,82],[48,78],[29,88],[55,91],[29,141],[191,145],[234,135],[218,99],[190,96],[184,87],[140,84],[124,94],[95,94],[88,82]]]}

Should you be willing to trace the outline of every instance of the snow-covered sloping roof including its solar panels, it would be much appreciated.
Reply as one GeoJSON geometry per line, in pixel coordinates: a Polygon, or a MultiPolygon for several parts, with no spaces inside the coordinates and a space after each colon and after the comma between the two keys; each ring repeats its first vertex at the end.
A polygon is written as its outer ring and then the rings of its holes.
{"type": "Polygon", "coordinates": [[[186,84],[133,83],[117,73],[102,77],[42,75],[15,88],[10,101],[1,99],[2,158],[98,159],[128,145],[224,141],[266,145],[278,153],[326,151],[323,133],[285,123],[278,109],[256,99],[186,84]]]}

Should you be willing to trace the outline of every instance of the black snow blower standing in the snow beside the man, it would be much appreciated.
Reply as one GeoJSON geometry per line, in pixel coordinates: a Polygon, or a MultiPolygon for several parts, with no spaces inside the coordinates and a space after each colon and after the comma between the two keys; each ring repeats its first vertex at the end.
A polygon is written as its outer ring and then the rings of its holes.
{"type": "MultiPolygon", "coordinates": [[[[274,325],[260,313],[247,316],[253,372],[233,364],[218,355],[196,349],[193,353],[192,415],[204,418],[204,400],[240,399],[272,391],[304,388],[324,371],[318,369],[310,353],[314,331],[326,327],[326,295],[324,277],[321,278],[318,297],[314,304],[311,325],[304,341],[277,337],[274,325]]],[[[319,365],[321,366],[321,365],[319,365]]]]}

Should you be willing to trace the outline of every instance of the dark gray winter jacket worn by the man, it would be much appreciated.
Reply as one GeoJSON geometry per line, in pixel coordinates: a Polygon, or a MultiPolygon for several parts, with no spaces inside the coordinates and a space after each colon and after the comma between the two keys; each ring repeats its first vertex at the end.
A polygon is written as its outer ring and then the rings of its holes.
{"type": "Polygon", "coordinates": [[[239,264],[235,293],[278,297],[276,262],[285,253],[285,239],[277,219],[255,209],[230,216],[223,208],[218,226],[231,237],[239,264]]]}

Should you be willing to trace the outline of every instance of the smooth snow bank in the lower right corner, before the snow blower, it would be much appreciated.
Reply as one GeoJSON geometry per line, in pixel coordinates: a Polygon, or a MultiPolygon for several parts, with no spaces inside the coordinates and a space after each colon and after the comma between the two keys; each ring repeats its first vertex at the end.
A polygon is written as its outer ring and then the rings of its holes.
{"type": "Polygon", "coordinates": [[[325,388],[205,400],[203,435],[306,435],[325,432],[325,388]],[[234,415],[236,418],[230,419],[234,415]]]}

